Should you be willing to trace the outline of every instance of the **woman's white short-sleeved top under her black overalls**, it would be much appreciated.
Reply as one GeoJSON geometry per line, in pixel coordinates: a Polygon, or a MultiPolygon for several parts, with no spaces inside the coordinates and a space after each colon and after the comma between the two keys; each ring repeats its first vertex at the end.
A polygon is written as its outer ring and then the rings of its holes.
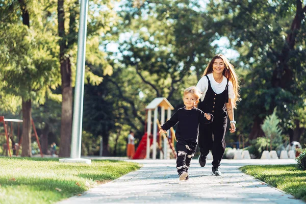
{"type": "MultiPolygon", "coordinates": [[[[216,82],[216,80],[214,79],[213,73],[209,73],[207,74],[210,82],[211,82],[211,86],[213,91],[216,94],[222,93],[226,87],[226,83],[227,83],[227,79],[226,77],[223,76],[223,80],[221,83],[216,82]]],[[[208,80],[205,76],[203,76],[199,82],[197,83],[196,87],[200,90],[200,92],[202,93],[202,97],[201,97],[201,101],[204,100],[207,89],[208,89],[208,80]]],[[[231,81],[228,81],[228,98],[234,99],[235,98],[235,92],[234,92],[234,87],[233,87],[233,83],[231,81]]]]}

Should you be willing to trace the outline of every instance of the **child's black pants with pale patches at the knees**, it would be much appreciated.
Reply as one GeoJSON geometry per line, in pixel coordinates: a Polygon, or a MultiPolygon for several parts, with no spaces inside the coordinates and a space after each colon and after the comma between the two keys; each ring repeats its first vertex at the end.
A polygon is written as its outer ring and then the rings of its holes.
{"type": "Polygon", "coordinates": [[[188,171],[191,159],[194,157],[197,143],[179,139],[176,141],[176,168],[177,172],[188,171]]]}

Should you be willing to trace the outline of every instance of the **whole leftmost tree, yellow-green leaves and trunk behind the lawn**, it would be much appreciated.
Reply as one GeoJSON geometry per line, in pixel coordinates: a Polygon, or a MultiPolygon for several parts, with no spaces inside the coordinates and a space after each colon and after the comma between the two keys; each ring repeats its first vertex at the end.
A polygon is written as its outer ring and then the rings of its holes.
{"type": "Polygon", "coordinates": [[[19,96],[22,100],[22,157],[31,152],[31,112],[32,103],[43,104],[43,96],[56,86],[58,81],[57,60],[54,36],[44,25],[46,13],[36,8],[47,8],[43,2],[11,1],[4,4],[1,12],[0,55],[3,73],[2,91],[8,95],[19,96]],[[9,15],[7,15],[10,13],[9,15]],[[30,25],[30,13],[33,17],[30,25]],[[20,22],[22,19],[22,22],[20,22]],[[39,21],[37,19],[41,19],[39,21]],[[42,99],[41,99],[42,96],[42,99]]]}

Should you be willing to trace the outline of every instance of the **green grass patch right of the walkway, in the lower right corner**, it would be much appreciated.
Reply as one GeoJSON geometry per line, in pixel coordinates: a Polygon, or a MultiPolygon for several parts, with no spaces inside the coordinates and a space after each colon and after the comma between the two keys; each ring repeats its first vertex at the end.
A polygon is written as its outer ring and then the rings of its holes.
{"type": "Polygon", "coordinates": [[[297,165],[244,166],[240,170],[306,201],[306,171],[297,165]]]}

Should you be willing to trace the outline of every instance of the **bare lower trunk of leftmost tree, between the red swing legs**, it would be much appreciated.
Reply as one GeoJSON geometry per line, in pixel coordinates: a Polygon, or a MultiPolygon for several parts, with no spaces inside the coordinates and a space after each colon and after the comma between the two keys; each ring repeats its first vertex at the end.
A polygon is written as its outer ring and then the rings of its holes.
{"type": "Polygon", "coordinates": [[[32,112],[31,100],[25,101],[22,98],[22,151],[21,157],[31,157],[31,112],[32,112]]]}

